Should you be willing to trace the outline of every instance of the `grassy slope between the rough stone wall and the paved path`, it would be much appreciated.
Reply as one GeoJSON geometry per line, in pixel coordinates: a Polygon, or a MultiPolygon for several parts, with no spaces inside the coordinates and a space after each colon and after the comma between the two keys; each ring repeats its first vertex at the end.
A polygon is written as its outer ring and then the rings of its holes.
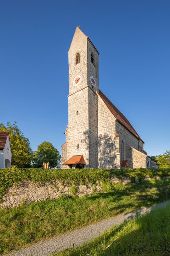
{"type": "Polygon", "coordinates": [[[61,196],[0,210],[0,254],[117,214],[170,199],[170,179],[103,186],[103,193],[61,196]]]}

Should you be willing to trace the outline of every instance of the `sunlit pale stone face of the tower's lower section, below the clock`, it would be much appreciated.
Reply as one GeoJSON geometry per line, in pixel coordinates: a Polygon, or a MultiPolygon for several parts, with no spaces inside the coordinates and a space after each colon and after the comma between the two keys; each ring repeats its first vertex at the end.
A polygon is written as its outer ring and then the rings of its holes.
{"type": "Polygon", "coordinates": [[[86,162],[85,167],[89,167],[88,102],[88,87],[68,97],[67,160],[73,155],[83,154],[86,162]]]}

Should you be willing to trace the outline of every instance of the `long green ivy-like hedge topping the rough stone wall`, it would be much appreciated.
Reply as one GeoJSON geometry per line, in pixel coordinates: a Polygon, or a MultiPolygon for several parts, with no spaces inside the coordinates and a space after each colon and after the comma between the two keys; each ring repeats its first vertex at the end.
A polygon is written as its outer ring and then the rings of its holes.
{"type": "Polygon", "coordinates": [[[170,176],[170,169],[18,169],[16,167],[0,169],[0,198],[6,193],[8,187],[17,184],[18,181],[31,180],[35,183],[46,183],[59,179],[62,183],[75,185],[95,184],[97,181],[108,182],[111,177],[129,177],[139,181],[146,176],[170,176]]]}

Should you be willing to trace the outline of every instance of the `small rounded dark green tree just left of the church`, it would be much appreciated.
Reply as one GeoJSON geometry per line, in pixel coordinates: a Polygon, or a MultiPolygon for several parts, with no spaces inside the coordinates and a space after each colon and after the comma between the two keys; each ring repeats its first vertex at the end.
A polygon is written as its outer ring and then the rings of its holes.
{"type": "Polygon", "coordinates": [[[33,167],[42,168],[43,162],[49,162],[50,168],[60,168],[60,159],[59,151],[50,142],[45,141],[33,152],[33,167]]]}

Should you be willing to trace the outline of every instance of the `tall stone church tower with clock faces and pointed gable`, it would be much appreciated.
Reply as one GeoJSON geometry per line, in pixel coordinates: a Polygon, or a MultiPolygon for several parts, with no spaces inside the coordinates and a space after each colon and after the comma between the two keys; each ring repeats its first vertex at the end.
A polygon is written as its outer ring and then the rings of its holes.
{"type": "Polygon", "coordinates": [[[98,55],[90,39],[77,27],[68,51],[68,125],[62,168],[98,167],[98,55]]]}

